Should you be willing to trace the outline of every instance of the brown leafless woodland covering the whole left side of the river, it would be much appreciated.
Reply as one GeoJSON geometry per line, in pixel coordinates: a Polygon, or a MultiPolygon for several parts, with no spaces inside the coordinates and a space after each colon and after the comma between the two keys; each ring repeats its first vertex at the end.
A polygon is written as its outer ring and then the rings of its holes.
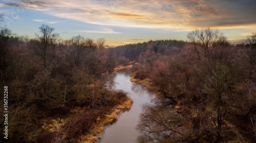
{"type": "MultiPolygon", "coordinates": [[[[119,64],[113,48],[104,48],[105,39],[78,35],[63,40],[44,24],[35,39],[18,37],[5,26],[3,15],[0,18],[0,84],[8,86],[8,142],[82,141],[99,117],[126,100],[102,79],[119,64]]],[[[5,125],[0,126],[3,131],[5,125]]]]}

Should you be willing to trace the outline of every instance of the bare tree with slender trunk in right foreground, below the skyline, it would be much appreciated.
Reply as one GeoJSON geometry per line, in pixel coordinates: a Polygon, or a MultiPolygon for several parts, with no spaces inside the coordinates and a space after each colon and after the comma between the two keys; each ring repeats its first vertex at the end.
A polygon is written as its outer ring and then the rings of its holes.
{"type": "Polygon", "coordinates": [[[202,91],[208,95],[209,104],[217,108],[217,119],[212,120],[217,120],[218,125],[216,125],[216,129],[218,135],[221,137],[223,116],[226,112],[226,103],[230,98],[229,87],[232,78],[228,65],[222,62],[209,62],[205,67],[205,73],[207,73],[207,75],[202,91]]]}

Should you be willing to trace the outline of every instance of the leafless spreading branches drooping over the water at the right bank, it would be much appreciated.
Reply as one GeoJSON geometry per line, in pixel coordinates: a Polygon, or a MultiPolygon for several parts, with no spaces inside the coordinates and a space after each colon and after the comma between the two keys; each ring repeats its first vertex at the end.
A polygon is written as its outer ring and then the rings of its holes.
{"type": "MultiPolygon", "coordinates": [[[[173,112],[170,104],[144,105],[137,130],[147,134],[149,138],[163,140],[183,135],[185,119],[173,112]]],[[[140,138],[141,140],[141,138],[140,138]]],[[[146,141],[147,142],[147,141],[146,141]]]]}

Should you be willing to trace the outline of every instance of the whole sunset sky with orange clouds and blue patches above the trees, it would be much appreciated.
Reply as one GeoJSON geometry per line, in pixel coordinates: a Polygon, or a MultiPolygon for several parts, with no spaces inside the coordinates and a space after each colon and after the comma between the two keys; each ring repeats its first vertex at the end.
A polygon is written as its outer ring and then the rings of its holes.
{"type": "Polygon", "coordinates": [[[0,0],[5,24],[35,38],[41,24],[62,39],[105,38],[110,46],[149,40],[188,40],[196,29],[218,29],[231,43],[256,33],[255,0],[0,0]]]}

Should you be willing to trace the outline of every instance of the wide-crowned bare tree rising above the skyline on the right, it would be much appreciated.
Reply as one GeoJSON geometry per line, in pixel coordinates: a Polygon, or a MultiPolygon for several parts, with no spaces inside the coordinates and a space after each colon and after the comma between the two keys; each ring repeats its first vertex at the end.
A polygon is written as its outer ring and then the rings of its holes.
{"type": "Polygon", "coordinates": [[[211,54],[219,37],[219,31],[210,30],[210,28],[196,30],[187,35],[187,38],[193,43],[194,50],[199,59],[201,59],[201,54],[203,54],[205,57],[211,54]]]}

